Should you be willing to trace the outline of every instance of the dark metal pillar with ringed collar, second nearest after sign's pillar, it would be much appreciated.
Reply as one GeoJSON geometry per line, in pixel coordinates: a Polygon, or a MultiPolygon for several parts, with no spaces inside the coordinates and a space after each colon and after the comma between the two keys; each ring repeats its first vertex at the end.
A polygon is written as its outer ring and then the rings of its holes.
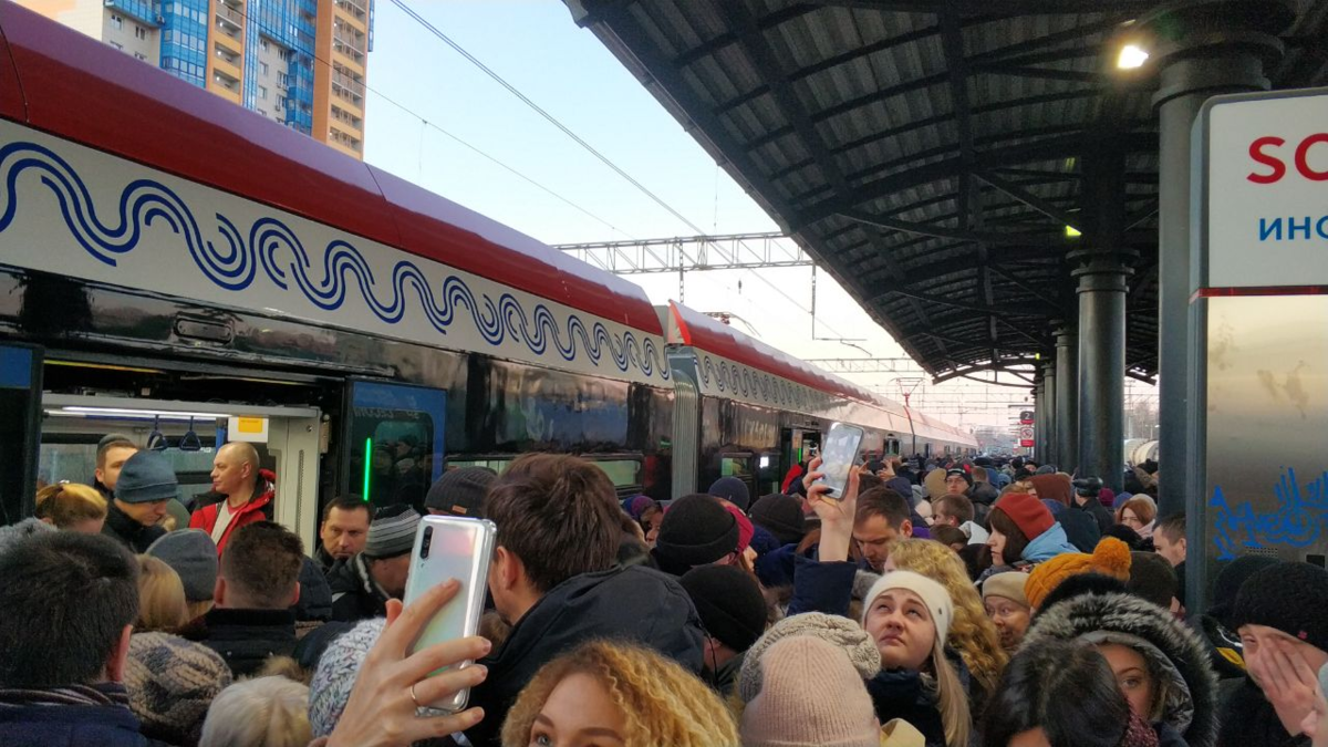
{"type": "Polygon", "coordinates": [[[1078,451],[1085,477],[1120,490],[1125,445],[1125,152],[1101,132],[1086,150],[1082,199],[1089,217],[1084,249],[1070,254],[1078,279],[1078,451]]]}

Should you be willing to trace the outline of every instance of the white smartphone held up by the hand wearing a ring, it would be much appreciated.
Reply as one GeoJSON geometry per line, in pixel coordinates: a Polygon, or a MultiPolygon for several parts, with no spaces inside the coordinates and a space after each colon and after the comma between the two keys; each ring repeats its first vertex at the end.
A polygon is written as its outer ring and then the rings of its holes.
{"type": "MultiPolygon", "coordinates": [[[[489,562],[494,552],[498,528],[483,518],[463,518],[459,516],[426,516],[416,530],[414,550],[410,554],[410,570],[406,576],[404,602],[409,605],[425,591],[456,578],[461,590],[448,602],[420,638],[410,646],[410,653],[428,649],[434,643],[475,635],[479,630],[479,617],[485,613],[485,595],[489,591],[489,562]]],[[[473,662],[462,662],[467,667],[473,662]]],[[[433,674],[441,674],[438,670],[433,674]]],[[[429,708],[454,714],[466,707],[469,690],[461,690],[445,702],[429,703],[429,708]]]]}

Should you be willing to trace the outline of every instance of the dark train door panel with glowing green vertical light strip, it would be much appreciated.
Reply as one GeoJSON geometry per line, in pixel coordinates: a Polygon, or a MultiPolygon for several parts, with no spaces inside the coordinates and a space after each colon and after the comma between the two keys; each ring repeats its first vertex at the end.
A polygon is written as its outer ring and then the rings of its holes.
{"type": "Polygon", "coordinates": [[[351,381],[347,408],[347,494],[374,506],[417,509],[442,476],[448,395],[441,389],[351,381]]]}

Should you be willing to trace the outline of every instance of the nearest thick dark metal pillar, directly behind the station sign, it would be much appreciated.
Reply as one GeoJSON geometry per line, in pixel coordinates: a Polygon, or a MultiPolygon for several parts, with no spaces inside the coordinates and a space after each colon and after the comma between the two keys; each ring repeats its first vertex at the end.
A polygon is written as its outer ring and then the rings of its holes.
{"type": "Polygon", "coordinates": [[[1167,41],[1151,52],[1158,110],[1158,464],[1159,513],[1186,508],[1193,461],[1187,411],[1190,295],[1190,140],[1199,106],[1219,93],[1267,90],[1264,61],[1282,53],[1275,35],[1295,19],[1287,3],[1202,0],[1167,4],[1141,19],[1167,41]]]}

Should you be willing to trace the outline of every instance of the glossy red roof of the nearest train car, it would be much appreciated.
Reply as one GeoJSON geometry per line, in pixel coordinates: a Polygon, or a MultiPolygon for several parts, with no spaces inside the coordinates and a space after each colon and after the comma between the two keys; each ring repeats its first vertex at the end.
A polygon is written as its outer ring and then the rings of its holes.
{"type": "Polygon", "coordinates": [[[0,117],[663,335],[636,284],[9,0],[0,51],[0,117]]]}

